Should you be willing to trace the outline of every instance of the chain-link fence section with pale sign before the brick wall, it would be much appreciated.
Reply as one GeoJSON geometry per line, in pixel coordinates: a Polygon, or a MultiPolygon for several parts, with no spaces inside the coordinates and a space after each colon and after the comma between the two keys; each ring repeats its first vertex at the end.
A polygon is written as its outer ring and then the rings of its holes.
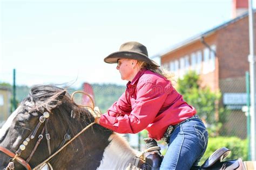
{"type": "Polygon", "coordinates": [[[224,108],[221,136],[247,137],[247,114],[242,111],[246,107],[246,77],[235,77],[220,80],[222,94],[221,107],[224,108]]]}

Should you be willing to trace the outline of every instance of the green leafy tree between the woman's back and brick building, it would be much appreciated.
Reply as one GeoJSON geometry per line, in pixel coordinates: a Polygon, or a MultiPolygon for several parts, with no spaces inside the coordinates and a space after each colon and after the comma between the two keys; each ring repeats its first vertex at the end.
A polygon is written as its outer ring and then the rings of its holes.
{"type": "Polygon", "coordinates": [[[221,93],[211,91],[209,87],[200,87],[199,75],[188,72],[178,79],[177,91],[184,100],[197,110],[197,114],[206,122],[210,136],[217,136],[224,123],[224,109],[219,107],[221,93]]]}

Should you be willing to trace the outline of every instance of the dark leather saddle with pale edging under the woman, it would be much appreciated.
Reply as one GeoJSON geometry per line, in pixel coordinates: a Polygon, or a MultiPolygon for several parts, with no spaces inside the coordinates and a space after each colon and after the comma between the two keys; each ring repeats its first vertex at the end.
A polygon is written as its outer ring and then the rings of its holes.
{"type": "MultiPolygon", "coordinates": [[[[150,151],[150,148],[156,148],[157,143],[153,139],[144,139],[146,141],[147,151],[150,151]]],[[[159,150],[152,150],[150,152],[145,152],[144,154],[145,164],[143,164],[140,168],[141,169],[159,169],[161,165],[161,161],[163,160],[163,156],[159,150]]],[[[221,147],[215,152],[211,154],[211,156],[204,162],[201,166],[193,166],[191,169],[196,170],[204,170],[204,169],[238,169],[238,170],[245,170],[244,162],[242,162],[241,158],[236,160],[227,160],[223,161],[231,151],[226,147],[221,147]]]]}

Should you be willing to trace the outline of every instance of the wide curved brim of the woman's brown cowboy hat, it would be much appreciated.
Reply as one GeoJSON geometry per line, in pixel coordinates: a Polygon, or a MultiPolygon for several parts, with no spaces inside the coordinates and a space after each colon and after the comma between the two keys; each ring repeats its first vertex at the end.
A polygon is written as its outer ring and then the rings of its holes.
{"type": "Polygon", "coordinates": [[[131,51],[118,51],[107,56],[104,61],[106,63],[117,63],[119,59],[133,59],[145,61],[147,64],[160,67],[156,61],[149,59],[145,54],[131,51]]]}

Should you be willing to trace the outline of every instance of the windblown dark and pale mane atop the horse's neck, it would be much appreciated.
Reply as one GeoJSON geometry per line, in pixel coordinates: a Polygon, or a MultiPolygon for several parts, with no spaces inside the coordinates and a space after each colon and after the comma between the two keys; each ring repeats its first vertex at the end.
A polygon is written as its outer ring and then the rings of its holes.
{"type": "Polygon", "coordinates": [[[66,92],[67,90],[51,84],[35,85],[31,87],[29,96],[24,98],[21,105],[28,107],[26,102],[29,102],[29,112],[46,110],[51,112],[52,109],[58,108],[63,104],[64,110],[70,111],[72,118],[76,118],[78,121],[94,121],[90,111],[79,107],[79,105],[72,101],[70,94],[66,92]]]}

